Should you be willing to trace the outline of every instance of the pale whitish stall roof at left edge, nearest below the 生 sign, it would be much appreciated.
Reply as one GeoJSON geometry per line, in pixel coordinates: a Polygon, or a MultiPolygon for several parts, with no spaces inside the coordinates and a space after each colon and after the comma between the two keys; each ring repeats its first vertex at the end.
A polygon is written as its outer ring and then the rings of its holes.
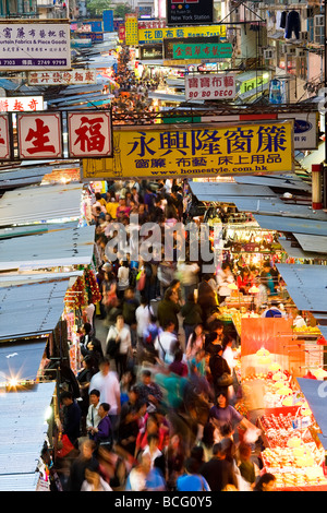
{"type": "Polygon", "coordinates": [[[81,217],[82,183],[7,191],[0,200],[0,226],[81,217]]]}

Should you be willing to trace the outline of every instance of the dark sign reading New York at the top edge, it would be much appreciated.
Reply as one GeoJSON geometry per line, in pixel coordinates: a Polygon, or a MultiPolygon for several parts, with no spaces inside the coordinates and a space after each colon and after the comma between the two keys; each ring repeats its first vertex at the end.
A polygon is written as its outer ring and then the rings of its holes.
{"type": "Polygon", "coordinates": [[[167,0],[167,25],[214,22],[214,0],[167,0]]]}

